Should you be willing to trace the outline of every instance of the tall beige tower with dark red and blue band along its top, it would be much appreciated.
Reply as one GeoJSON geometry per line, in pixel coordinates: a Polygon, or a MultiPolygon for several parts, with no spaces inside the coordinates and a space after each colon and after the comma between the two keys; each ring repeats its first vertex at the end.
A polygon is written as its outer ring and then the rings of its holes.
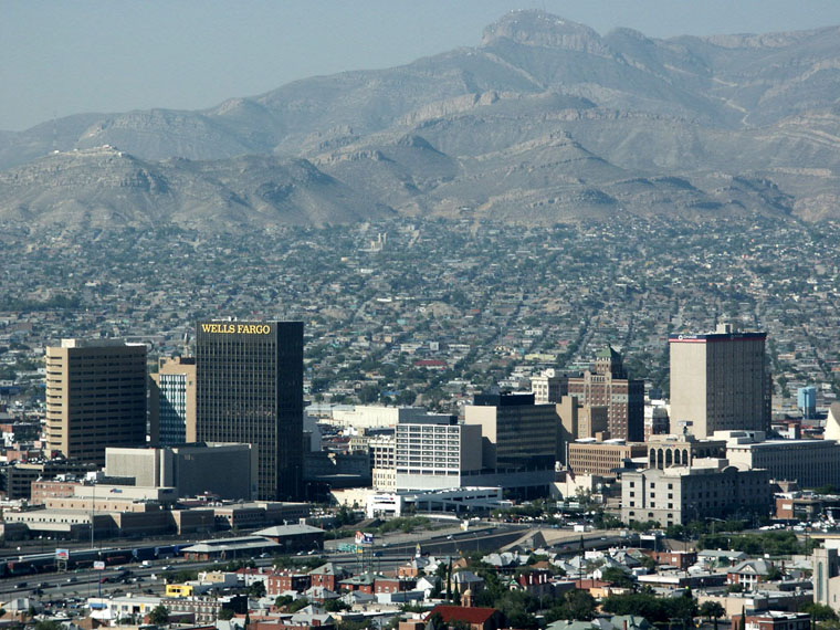
{"type": "Polygon", "coordinates": [[[766,333],[722,324],[705,335],[671,335],[671,432],[769,430],[766,333]]]}

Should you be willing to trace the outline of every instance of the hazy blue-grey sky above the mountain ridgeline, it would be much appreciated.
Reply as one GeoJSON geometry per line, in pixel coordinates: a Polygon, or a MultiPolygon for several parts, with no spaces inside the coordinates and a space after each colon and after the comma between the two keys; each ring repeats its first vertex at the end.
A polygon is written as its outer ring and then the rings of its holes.
{"type": "Polygon", "coordinates": [[[838,0],[0,0],[0,129],[400,65],[477,45],[516,9],[654,38],[840,24],[838,0]]]}

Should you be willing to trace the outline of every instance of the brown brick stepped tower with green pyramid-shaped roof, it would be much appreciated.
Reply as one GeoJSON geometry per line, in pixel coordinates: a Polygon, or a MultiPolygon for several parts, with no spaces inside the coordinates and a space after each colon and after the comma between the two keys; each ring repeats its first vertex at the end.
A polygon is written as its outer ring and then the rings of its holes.
{"type": "Polygon", "coordinates": [[[607,407],[607,430],[613,440],[644,439],[644,381],[627,375],[621,355],[611,346],[598,353],[595,371],[569,378],[569,396],[582,405],[607,407]]]}

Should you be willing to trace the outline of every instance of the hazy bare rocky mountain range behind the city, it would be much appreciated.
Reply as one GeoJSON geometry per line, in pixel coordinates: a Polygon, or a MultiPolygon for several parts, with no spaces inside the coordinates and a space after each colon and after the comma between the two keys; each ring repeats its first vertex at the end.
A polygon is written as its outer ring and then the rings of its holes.
{"type": "Polygon", "coordinates": [[[838,219],[839,101],[837,27],[661,40],[518,11],[405,66],[0,133],[0,221],[838,219]]]}

